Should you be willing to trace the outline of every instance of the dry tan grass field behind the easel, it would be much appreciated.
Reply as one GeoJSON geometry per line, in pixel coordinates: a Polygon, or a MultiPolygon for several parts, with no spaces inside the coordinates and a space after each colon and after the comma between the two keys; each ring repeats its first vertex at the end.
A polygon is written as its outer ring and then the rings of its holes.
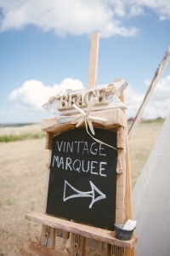
{"type": "MultiPolygon", "coordinates": [[[[163,122],[139,124],[129,143],[132,183],[156,143],[163,122]]],[[[41,125],[0,128],[0,136],[41,132],[41,125]]],[[[45,138],[0,143],[0,256],[25,255],[21,247],[28,246],[32,236],[41,234],[41,225],[25,219],[28,212],[42,212],[48,150],[45,138]]],[[[62,240],[56,247],[64,250],[62,240]]],[[[88,253],[87,254],[91,254],[88,253]]],[[[100,255],[94,252],[93,255],[100,255]]]]}

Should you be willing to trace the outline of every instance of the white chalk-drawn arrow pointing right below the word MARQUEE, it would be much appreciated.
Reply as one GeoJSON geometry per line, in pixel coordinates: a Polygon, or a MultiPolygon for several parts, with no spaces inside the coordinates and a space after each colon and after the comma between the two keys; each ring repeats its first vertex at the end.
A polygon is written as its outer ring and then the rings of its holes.
{"type": "Polygon", "coordinates": [[[94,202],[106,198],[106,195],[103,194],[103,193],[94,185],[94,183],[92,183],[91,181],[90,181],[89,183],[90,183],[90,185],[91,185],[92,190],[91,190],[91,191],[88,191],[88,192],[83,192],[83,191],[80,191],[80,190],[78,190],[78,189],[75,189],[74,187],[71,186],[70,183],[68,183],[68,182],[65,180],[63,201],[67,201],[67,200],[69,200],[69,199],[71,199],[71,198],[76,198],[76,197],[92,197],[91,204],[89,205],[89,208],[92,208],[94,202]],[[74,194],[74,195],[70,195],[70,196],[65,197],[65,192],[66,192],[66,187],[67,187],[67,186],[69,186],[71,189],[73,189],[75,192],[77,192],[77,194],[74,194]],[[98,194],[99,194],[99,196],[97,196],[96,198],[95,198],[95,191],[98,192],[98,194]]]}

